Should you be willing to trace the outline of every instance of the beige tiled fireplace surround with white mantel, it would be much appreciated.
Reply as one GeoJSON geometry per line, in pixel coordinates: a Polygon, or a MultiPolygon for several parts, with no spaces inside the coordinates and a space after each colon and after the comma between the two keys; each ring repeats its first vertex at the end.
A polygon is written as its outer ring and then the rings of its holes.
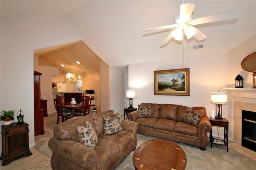
{"type": "Polygon", "coordinates": [[[231,122],[232,140],[241,146],[242,142],[242,110],[256,112],[256,89],[234,89],[228,90],[231,99],[231,122]]]}

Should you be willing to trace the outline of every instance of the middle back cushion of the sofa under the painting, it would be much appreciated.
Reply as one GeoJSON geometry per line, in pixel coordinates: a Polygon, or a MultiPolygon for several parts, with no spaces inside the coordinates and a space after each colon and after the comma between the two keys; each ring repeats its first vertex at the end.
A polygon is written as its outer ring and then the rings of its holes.
{"type": "Polygon", "coordinates": [[[177,121],[178,105],[162,104],[160,107],[159,118],[177,121]]]}

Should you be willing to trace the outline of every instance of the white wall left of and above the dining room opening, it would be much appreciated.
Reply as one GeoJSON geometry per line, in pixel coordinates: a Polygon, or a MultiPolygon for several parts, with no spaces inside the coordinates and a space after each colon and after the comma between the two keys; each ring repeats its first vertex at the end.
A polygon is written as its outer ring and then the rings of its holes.
{"type": "Polygon", "coordinates": [[[29,143],[34,146],[34,49],[78,41],[81,37],[60,18],[1,19],[0,31],[0,77],[5,77],[0,79],[0,109],[24,112],[29,143]]]}

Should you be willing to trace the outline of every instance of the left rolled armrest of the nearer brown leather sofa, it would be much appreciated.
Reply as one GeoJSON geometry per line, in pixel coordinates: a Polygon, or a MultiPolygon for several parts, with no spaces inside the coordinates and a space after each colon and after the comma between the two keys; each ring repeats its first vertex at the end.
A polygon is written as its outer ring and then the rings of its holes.
{"type": "Polygon", "coordinates": [[[60,156],[82,166],[83,168],[98,169],[98,156],[96,151],[71,139],[59,140],[50,138],[49,148],[60,156]]]}

